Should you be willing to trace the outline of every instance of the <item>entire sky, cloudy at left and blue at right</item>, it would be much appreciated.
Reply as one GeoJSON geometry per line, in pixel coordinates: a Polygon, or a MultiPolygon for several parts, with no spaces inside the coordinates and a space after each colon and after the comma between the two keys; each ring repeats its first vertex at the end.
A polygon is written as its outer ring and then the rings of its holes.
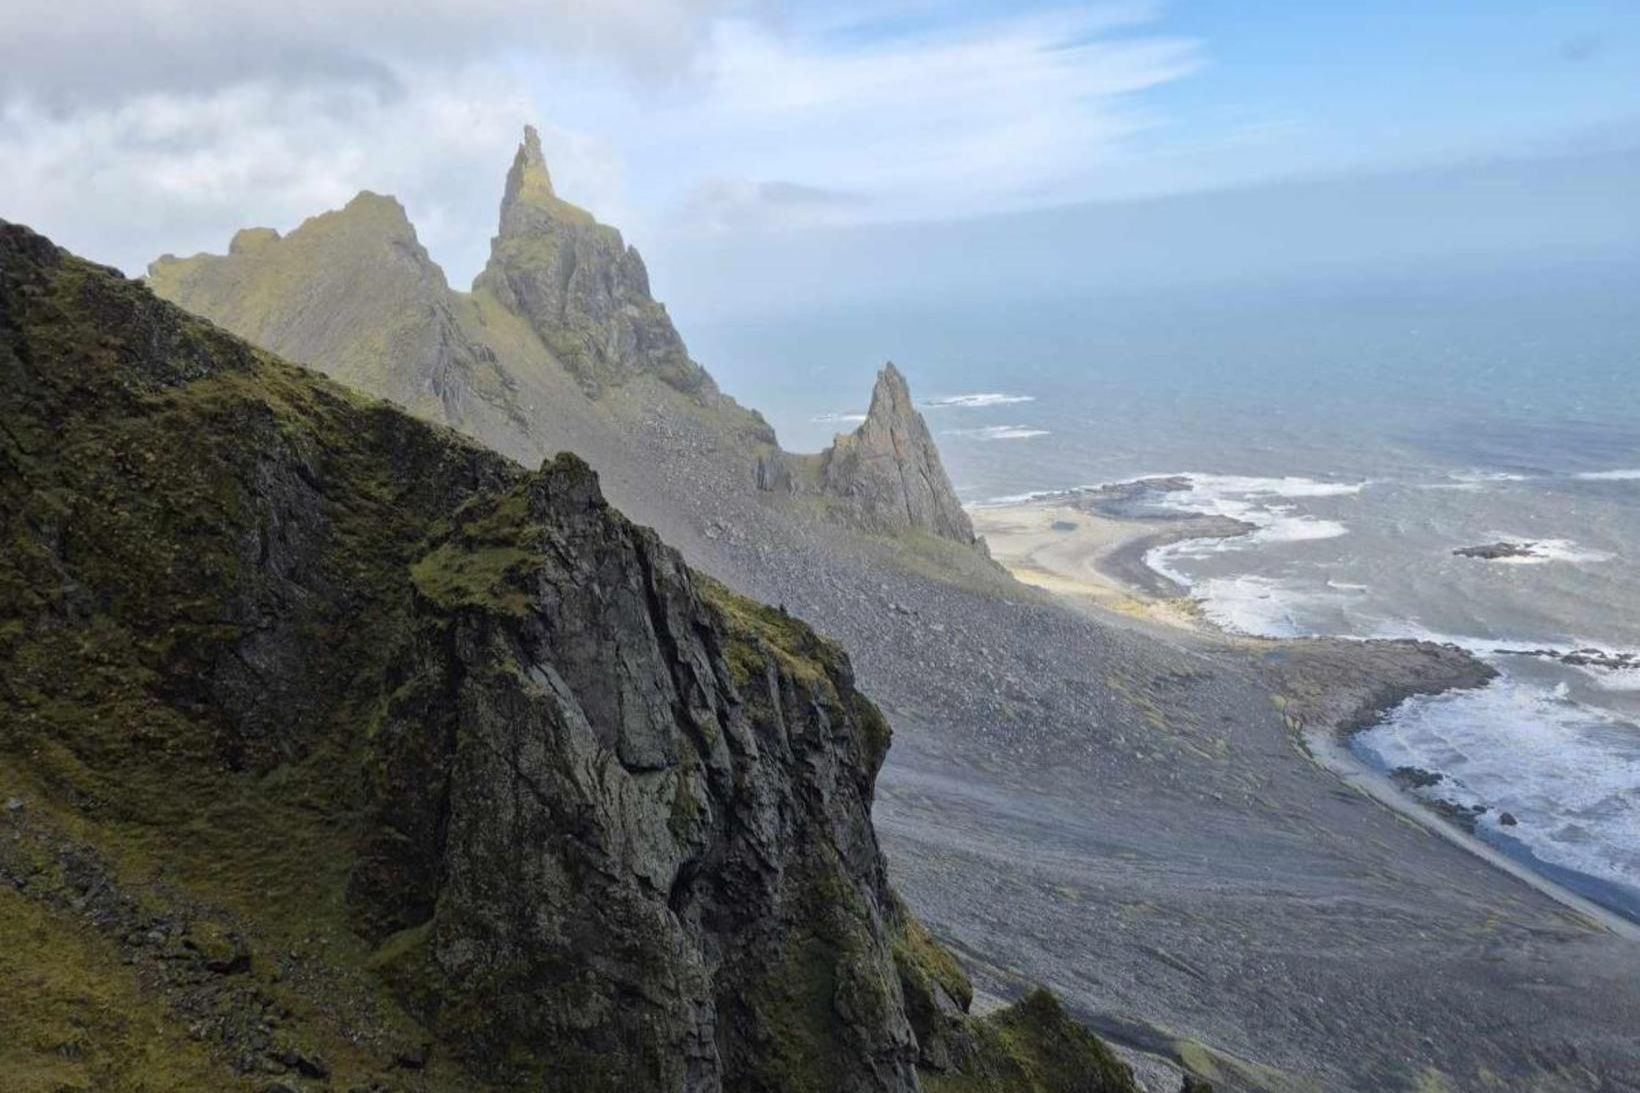
{"type": "MultiPolygon", "coordinates": [[[[1292,207],[1401,240],[1442,185],[1484,208],[1460,245],[1538,248],[1635,238],[1635,72],[1633,0],[7,0],[0,218],[134,274],[372,189],[464,287],[533,121],[663,297],[753,289],[759,253],[882,281],[886,248],[1007,251],[1010,225],[1028,269],[1110,208],[1184,268],[1292,207]]],[[[1156,266],[1091,231],[1107,268],[1156,266]]]]}

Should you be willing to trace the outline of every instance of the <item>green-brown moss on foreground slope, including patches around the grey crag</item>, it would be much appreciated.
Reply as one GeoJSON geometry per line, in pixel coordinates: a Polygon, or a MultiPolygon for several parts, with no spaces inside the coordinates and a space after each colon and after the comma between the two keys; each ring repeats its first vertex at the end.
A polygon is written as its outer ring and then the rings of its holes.
{"type": "MultiPolygon", "coordinates": [[[[0,259],[0,1088],[484,1088],[426,1057],[428,931],[372,947],[349,878],[417,606],[525,609],[526,474],[108,271],[0,259]]],[[[736,684],[846,693],[874,773],[887,722],[841,650],[697,591],[736,684]]],[[[753,1067],[771,1090],[830,1088],[843,1014],[882,1027],[899,1004],[858,881],[836,862],[809,881],[810,929],[753,999],[784,1014],[753,1067]]],[[[966,996],[920,927],[895,957],[966,996]]],[[[981,1026],[982,1085],[935,1088],[1105,1088],[1051,1085],[1092,1055],[1056,1009],[1020,1014],[981,1026]]]]}

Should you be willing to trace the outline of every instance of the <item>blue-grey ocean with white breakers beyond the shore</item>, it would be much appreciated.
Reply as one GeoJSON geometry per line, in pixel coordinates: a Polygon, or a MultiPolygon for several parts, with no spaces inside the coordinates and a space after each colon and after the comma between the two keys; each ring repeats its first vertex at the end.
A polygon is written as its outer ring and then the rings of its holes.
{"type": "Polygon", "coordinates": [[[1148,504],[1256,530],[1148,561],[1225,630],[1473,650],[1496,683],[1410,699],[1358,757],[1438,775],[1410,791],[1640,919],[1637,300],[1632,264],[1402,269],[687,333],[797,450],[892,358],[966,502],[1187,476],[1148,504]]]}

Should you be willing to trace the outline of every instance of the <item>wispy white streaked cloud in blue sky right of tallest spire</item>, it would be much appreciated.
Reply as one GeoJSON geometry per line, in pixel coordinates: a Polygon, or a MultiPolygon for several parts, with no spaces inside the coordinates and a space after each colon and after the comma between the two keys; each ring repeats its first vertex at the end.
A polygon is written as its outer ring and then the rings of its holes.
{"type": "Polygon", "coordinates": [[[718,149],[727,177],[854,195],[854,218],[1068,200],[1155,123],[1137,97],[1200,64],[1141,25],[1132,8],[809,34],[718,20],[695,57],[705,90],[654,128],[718,149]]]}

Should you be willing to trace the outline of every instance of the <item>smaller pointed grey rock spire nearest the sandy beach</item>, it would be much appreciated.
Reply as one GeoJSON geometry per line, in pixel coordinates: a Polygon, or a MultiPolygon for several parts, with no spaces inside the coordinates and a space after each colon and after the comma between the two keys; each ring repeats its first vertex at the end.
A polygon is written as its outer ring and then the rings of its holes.
{"type": "Polygon", "coordinates": [[[820,453],[820,492],[872,532],[977,542],[905,376],[892,363],[877,373],[861,427],[820,453]]]}

